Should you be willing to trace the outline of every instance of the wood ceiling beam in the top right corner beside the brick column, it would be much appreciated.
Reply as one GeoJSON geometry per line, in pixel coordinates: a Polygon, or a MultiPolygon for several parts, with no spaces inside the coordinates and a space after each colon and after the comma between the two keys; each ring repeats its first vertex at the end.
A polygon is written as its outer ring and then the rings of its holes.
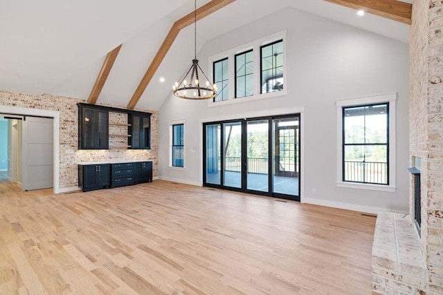
{"type": "Polygon", "coordinates": [[[324,0],[410,25],[413,5],[397,0],[324,0]]]}

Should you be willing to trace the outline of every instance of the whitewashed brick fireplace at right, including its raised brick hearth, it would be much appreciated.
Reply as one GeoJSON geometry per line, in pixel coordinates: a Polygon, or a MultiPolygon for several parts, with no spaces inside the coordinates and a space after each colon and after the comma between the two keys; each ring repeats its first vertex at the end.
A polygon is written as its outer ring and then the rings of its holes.
{"type": "MultiPolygon", "coordinates": [[[[421,238],[409,215],[381,213],[372,248],[374,294],[443,294],[443,0],[414,0],[410,27],[410,166],[421,159],[421,238]]],[[[411,218],[412,216],[412,218],[411,218]]]]}

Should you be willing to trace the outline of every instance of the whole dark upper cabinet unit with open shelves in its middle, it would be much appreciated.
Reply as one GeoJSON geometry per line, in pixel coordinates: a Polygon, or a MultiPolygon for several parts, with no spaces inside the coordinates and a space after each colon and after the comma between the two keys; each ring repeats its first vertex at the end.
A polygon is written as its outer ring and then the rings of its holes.
{"type": "MultiPolygon", "coordinates": [[[[78,105],[78,149],[150,149],[151,141],[151,113],[96,106],[94,104],[78,105]],[[109,113],[127,115],[126,123],[109,123],[109,113]],[[109,125],[120,126],[118,133],[109,134],[109,125]],[[127,134],[124,130],[127,128],[127,134]],[[124,131],[125,134],[120,133],[124,131]],[[117,139],[126,139],[120,142],[117,139]],[[113,138],[112,146],[109,138],[113,138]],[[116,145],[117,142],[118,144],[116,145]]],[[[115,116],[115,114],[114,114],[115,116]]],[[[121,120],[121,117],[120,117],[121,120]]],[[[121,122],[121,121],[120,121],[121,122]]]]}

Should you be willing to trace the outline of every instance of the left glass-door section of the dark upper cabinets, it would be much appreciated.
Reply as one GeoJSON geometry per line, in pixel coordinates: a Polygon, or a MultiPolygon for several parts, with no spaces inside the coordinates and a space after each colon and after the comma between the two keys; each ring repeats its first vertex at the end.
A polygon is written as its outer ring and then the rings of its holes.
{"type": "Polygon", "coordinates": [[[78,111],[78,148],[109,148],[109,113],[94,108],[78,111]]]}

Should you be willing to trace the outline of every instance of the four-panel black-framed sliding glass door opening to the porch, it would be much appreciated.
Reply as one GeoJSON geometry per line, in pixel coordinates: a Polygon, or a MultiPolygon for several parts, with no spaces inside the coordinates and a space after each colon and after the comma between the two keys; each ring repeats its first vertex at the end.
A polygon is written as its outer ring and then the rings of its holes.
{"type": "Polygon", "coordinates": [[[300,200],[300,115],[204,124],[204,185],[300,200]]]}

